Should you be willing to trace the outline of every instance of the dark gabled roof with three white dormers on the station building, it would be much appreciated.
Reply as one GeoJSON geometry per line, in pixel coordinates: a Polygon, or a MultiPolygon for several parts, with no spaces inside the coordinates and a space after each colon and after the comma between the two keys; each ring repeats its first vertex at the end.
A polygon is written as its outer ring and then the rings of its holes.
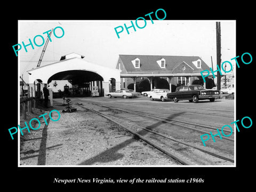
{"type": "Polygon", "coordinates": [[[205,69],[210,70],[210,67],[198,56],[170,56],[170,55],[125,55],[120,54],[119,58],[122,60],[125,69],[129,71],[151,71],[151,70],[173,70],[175,67],[180,65],[180,63],[185,62],[191,68],[196,71],[202,71],[205,69]],[[132,60],[139,58],[140,59],[140,68],[135,68],[132,65],[132,60]],[[161,68],[156,61],[165,59],[165,68],[161,68]],[[197,68],[192,62],[201,60],[201,68],[197,68]]]}

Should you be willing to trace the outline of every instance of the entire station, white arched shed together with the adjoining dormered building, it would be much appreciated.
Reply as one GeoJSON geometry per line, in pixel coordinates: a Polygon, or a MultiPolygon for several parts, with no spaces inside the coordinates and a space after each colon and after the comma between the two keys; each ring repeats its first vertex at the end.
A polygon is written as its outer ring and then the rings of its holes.
{"type": "MultiPolygon", "coordinates": [[[[42,99],[44,84],[51,87],[59,84],[79,97],[102,97],[106,92],[119,89],[141,92],[160,88],[174,92],[177,86],[190,84],[202,84],[211,89],[215,86],[214,81],[206,77],[204,83],[200,74],[206,69],[210,70],[209,66],[196,56],[121,54],[115,69],[86,61],[81,54],[70,53],[63,55],[58,62],[28,70],[28,92],[30,97],[42,99]],[[66,85],[57,83],[63,80],[66,80],[66,85]],[[93,95],[94,89],[98,94],[93,95]]],[[[54,87],[54,90],[58,89],[54,87]]]]}

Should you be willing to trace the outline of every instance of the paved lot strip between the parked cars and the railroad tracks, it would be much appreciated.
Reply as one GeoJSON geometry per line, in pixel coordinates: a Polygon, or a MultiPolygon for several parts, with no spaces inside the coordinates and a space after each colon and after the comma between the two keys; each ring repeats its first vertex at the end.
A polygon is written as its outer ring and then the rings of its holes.
{"type": "MultiPolygon", "coordinates": [[[[193,123],[209,125],[220,128],[223,125],[230,125],[235,121],[234,100],[220,99],[210,102],[208,100],[190,103],[189,101],[151,101],[148,97],[138,97],[132,99],[119,98],[71,98],[73,103],[94,102],[100,105],[129,109],[133,111],[145,112],[157,116],[170,117],[175,119],[190,121],[193,123]]],[[[233,127],[233,126],[232,126],[233,127]]],[[[233,127],[234,128],[234,127],[233,127]]]]}

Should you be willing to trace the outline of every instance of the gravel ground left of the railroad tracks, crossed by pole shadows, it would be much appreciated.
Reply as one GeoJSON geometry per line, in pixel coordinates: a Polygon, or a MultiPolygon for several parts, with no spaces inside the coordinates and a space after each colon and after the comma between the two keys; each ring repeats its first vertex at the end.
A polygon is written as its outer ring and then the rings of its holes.
{"type": "MultiPolygon", "coordinates": [[[[172,158],[113,122],[76,108],[75,113],[62,113],[65,107],[54,103],[54,108],[47,111],[37,109],[27,114],[27,123],[52,109],[59,110],[61,116],[57,122],[48,119],[48,125],[39,118],[38,130],[20,136],[20,165],[177,165],[172,158]]],[[[56,118],[58,115],[53,117],[56,118]]]]}

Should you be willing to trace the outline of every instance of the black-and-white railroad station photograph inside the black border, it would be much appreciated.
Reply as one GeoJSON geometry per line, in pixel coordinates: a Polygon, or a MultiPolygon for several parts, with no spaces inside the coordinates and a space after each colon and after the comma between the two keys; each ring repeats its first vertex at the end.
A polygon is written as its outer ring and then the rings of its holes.
{"type": "Polygon", "coordinates": [[[19,166],[235,165],[234,20],[19,21],[19,42],[19,166]]]}

